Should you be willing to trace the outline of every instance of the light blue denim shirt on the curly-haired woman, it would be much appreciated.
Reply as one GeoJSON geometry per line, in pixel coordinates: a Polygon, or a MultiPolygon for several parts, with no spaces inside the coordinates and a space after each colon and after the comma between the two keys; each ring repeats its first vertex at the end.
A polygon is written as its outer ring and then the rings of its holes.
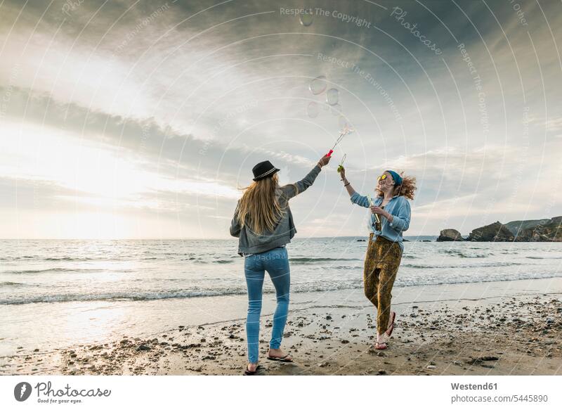
{"type": "MultiPolygon", "coordinates": [[[[370,207],[369,198],[366,196],[361,196],[355,192],[350,199],[351,203],[355,203],[366,208],[370,207]]],[[[373,198],[373,204],[375,206],[381,206],[383,199],[384,197],[377,196],[376,198],[373,198]]],[[[377,228],[375,227],[374,214],[372,214],[371,210],[369,210],[370,219],[368,227],[370,231],[374,233],[373,240],[380,235],[389,241],[398,242],[400,249],[404,252],[402,233],[410,227],[410,217],[412,214],[410,210],[410,202],[408,202],[404,196],[393,196],[391,200],[384,205],[384,210],[391,214],[393,219],[392,222],[388,222],[388,219],[379,215],[381,219],[381,231],[377,231],[377,228]]]]}

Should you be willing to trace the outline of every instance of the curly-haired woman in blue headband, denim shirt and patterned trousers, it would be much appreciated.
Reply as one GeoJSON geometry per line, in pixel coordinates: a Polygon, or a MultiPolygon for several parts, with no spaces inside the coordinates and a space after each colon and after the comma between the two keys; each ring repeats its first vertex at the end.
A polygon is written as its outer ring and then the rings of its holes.
{"type": "Polygon", "coordinates": [[[386,349],[392,334],[396,312],[391,311],[392,286],[404,252],[402,233],[410,226],[410,202],[414,199],[416,179],[400,177],[386,170],[377,178],[374,200],[361,196],[340,168],[341,180],[351,196],[351,203],[370,208],[369,245],[365,255],[363,285],[365,296],[377,308],[377,342],[374,348],[386,349]]]}

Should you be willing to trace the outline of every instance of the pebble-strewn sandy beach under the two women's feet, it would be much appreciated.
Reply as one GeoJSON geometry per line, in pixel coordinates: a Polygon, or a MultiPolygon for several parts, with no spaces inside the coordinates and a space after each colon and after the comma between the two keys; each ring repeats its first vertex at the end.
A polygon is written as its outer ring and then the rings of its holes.
{"type": "MultiPolygon", "coordinates": [[[[282,348],[292,364],[266,360],[273,297],[264,300],[261,375],[560,375],[562,278],[396,289],[396,327],[374,350],[374,308],[360,291],[296,295],[282,348]]],[[[148,338],[1,358],[1,374],[240,375],[246,363],[244,297],[238,319],[170,326],[148,338]]]]}

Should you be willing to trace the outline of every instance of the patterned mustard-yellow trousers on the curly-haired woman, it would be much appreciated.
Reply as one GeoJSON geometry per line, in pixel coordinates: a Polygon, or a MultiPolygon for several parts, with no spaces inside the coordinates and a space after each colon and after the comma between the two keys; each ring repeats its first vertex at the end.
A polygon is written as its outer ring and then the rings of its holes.
{"type": "Polygon", "coordinates": [[[365,255],[363,285],[365,286],[365,296],[377,308],[377,332],[380,335],[388,328],[392,286],[402,260],[402,250],[397,242],[388,241],[382,236],[377,236],[372,241],[372,237],[373,233],[369,236],[369,245],[365,255]]]}

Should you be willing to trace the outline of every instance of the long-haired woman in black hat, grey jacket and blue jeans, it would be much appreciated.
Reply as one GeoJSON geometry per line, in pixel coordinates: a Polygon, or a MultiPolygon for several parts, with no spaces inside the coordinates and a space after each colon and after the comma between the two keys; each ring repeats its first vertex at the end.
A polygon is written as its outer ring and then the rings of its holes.
{"type": "Polygon", "coordinates": [[[252,169],[254,182],[244,188],[244,194],[236,205],[230,235],[240,238],[238,254],[244,256],[248,288],[248,365],[244,371],[247,375],[255,374],[258,367],[259,319],[265,271],[268,271],[277,295],[268,359],[293,360],[280,349],[289,310],[290,273],[285,245],[296,233],[289,199],[306,191],[329,160],[330,157],[324,155],[304,179],[285,186],[279,186],[279,169],[269,161],[260,162],[252,169]]]}

